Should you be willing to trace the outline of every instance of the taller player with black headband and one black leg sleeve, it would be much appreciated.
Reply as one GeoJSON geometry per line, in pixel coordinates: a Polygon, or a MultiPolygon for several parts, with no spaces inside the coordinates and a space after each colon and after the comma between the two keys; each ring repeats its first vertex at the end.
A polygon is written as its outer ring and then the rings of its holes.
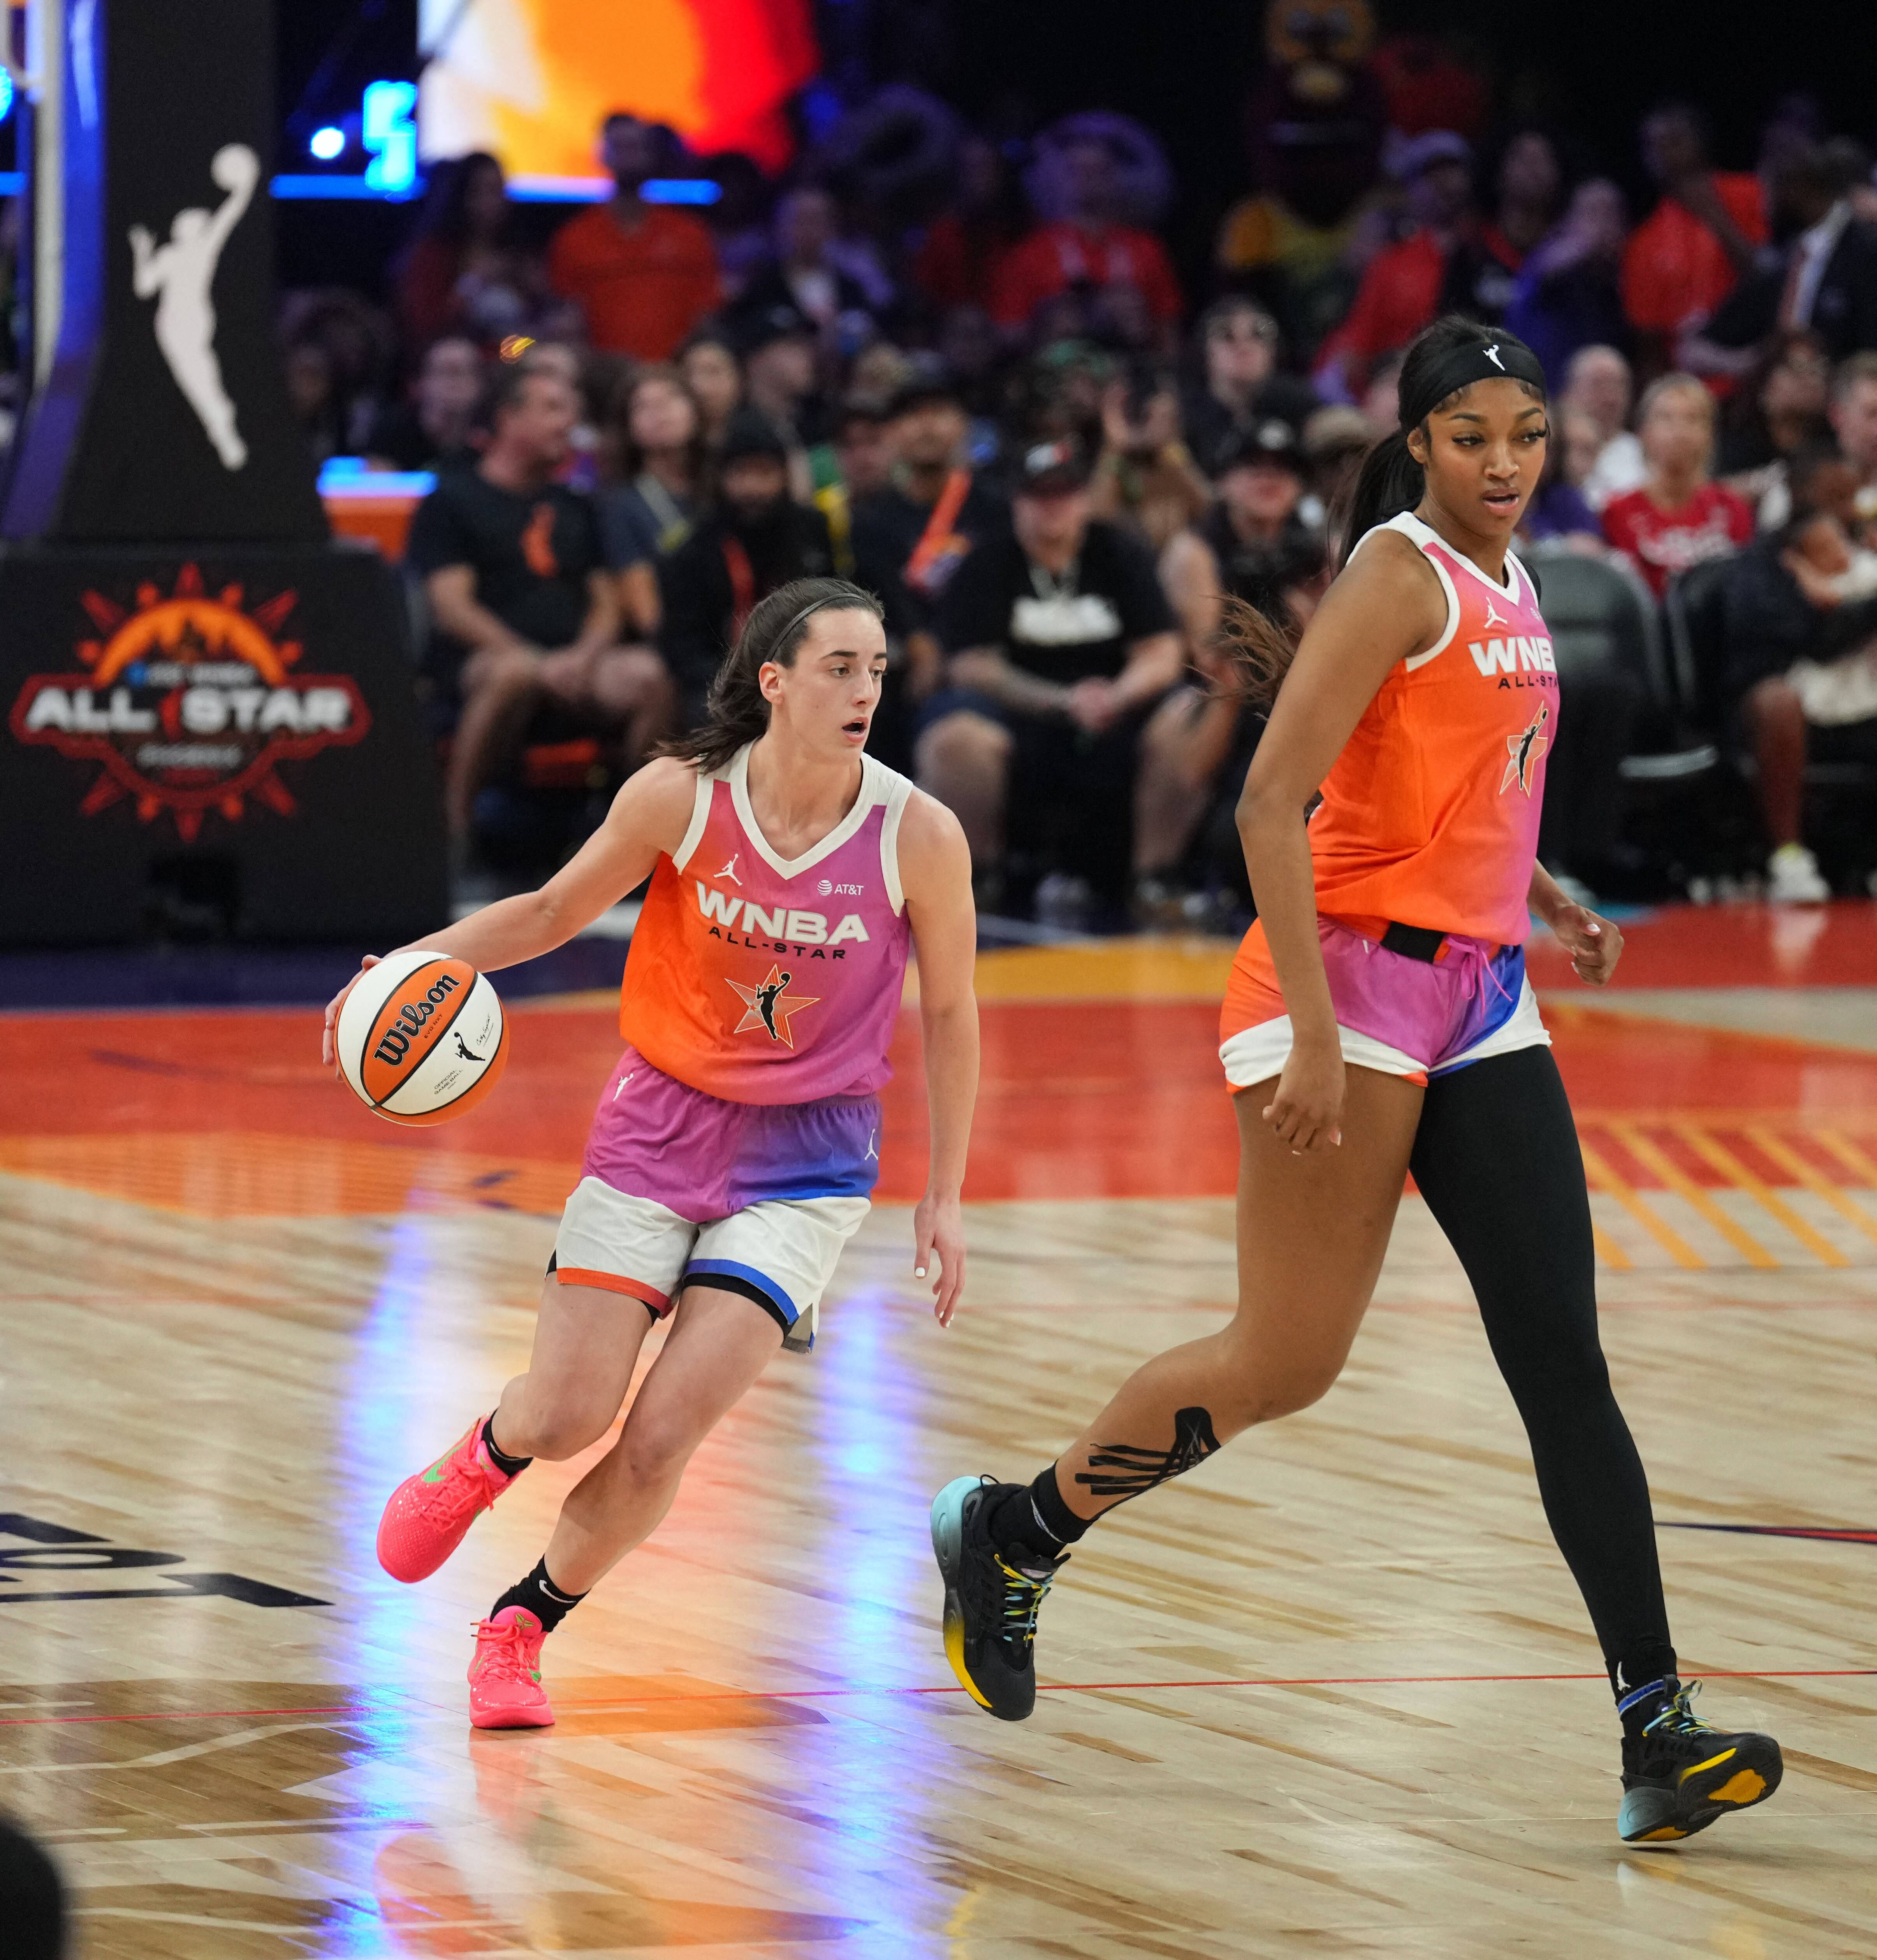
{"type": "Polygon", "coordinates": [[[1675,1676],[1649,1488],[1597,1337],[1583,1158],[1524,976],[1528,906],[1593,986],[1622,951],[1536,862],[1557,676],[1506,545],[1544,468],[1544,370],[1508,335],[1436,321],[1402,367],[1400,421],[1363,465],[1355,543],[1294,664],[1267,621],[1236,619],[1263,692],[1283,678],[1238,808],[1259,919],[1220,1019],[1238,1315],[1140,1368],[1028,1488],[939,1492],[945,1650],[992,1715],[1032,1711],[1036,1611],[1067,1548],[1330,1388],[1412,1170],[1610,1670],[1618,1831],[1681,1838],[1769,1797],[1781,1756],[1699,1721],[1675,1676]]]}

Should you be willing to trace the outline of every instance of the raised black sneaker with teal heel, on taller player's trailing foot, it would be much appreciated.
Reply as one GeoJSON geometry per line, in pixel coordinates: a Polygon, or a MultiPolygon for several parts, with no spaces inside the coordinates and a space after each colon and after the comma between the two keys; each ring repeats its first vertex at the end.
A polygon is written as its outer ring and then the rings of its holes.
{"type": "Polygon", "coordinates": [[[990,1543],[990,1507],[1016,1488],[959,1476],[932,1499],[932,1552],[945,1582],[945,1658],[971,1699],[998,1721],[1022,1721],[1036,1707],[1036,1609],[1069,1564],[1067,1552],[1014,1564],[990,1543]]]}

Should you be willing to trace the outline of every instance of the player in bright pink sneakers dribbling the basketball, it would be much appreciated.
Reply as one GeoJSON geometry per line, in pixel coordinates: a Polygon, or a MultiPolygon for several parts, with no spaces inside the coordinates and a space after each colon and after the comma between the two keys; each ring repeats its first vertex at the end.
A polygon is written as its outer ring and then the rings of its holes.
{"type": "Polygon", "coordinates": [[[428,1578],[535,1456],[575,1456],[610,1429],[645,1335],[671,1317],[618,1441],[477,1627],[479,1729],[553,1721],[543,1637],[653,1531],[777,1348],[812,1345],[879,1174],[908,941],[932,1102],[914,1270],[938,1266],[951,1323],[979,1062],[971,855],[949,809],[863,753],[885,664],[867,592],[783,586],[718,672],[706,727],[620,790],[565,870],[424,939],[482,972],[512,966],[651,874],[622,990],[628,1047],[561,1217],[528,1374],[392,1492],[379,1525],[384,1570],[428,1578]]]}

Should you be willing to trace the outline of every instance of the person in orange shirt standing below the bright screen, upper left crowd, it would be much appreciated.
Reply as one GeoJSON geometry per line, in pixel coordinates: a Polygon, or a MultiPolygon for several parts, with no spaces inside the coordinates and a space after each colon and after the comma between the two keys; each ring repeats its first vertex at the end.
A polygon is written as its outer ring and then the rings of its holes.
{"type": "Polygon", "coordinates": [[[608,116],[600,161],[614,194],[561,225],[547,247],[553,290],[579,304],[586,337],[602,353],[669,361],[724,294],[710,231],[643,198],[669,147],[657,125],[608,116]]]}

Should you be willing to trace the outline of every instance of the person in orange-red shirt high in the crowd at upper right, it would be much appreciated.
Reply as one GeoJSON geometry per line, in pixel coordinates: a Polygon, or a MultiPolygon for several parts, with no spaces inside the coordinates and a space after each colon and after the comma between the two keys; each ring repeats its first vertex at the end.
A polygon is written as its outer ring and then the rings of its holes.
{"type": "Polygon", "coordinates": [[[1661,368],[1675,337],[1700,325],[1753,265],[1767,239],[1759,178],[1708,163],[1697,108],[1665,102],[1642,122],[1642,157],[1661,202],[1622,255],[1622,310],[1642,341],[1644,368],[1661,368]]]}

